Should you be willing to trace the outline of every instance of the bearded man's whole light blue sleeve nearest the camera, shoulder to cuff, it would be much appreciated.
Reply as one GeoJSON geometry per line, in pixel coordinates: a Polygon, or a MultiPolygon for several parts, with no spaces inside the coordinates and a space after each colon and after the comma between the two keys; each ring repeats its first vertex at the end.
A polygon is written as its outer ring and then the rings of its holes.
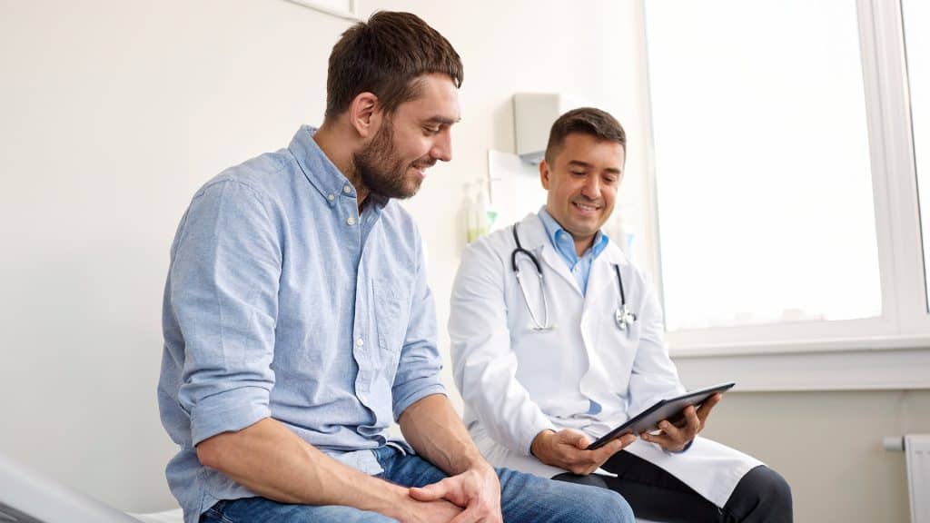
{"type": "Polygon", "coordinates": [[[262,194],[218,181],[194,197],[170,269],[184,341],[179,404],[193,445],[271,415],[281,246],[262,194]]]}

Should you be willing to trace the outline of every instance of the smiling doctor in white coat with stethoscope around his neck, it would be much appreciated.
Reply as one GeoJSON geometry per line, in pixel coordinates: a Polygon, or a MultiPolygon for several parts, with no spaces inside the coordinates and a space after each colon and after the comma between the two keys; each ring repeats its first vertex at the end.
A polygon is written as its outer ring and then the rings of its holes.
{"type": "Polygon", "coordinates": [[[790,521],[781,476],[697,436],[719,395],[688,408],[684,426],[587,449],[684,392],[655,291],[601,231],[625,154],[610,114],[562,115],[539,166],[546,205],[466,249],[449,333],[472,438],[495,466],[616,490],[638,517],[790,521]]]}

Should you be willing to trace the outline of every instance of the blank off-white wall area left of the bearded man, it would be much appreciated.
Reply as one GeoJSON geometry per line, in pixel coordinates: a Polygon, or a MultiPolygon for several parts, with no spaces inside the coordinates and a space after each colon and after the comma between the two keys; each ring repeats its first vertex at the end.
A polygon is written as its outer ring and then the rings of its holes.
{"type": "Polygon", "coordinates": [[[203,181],[324,108],[346,22],[283,1],[0,4],[0,451],[171,503],[161,290],[203,181]]]}

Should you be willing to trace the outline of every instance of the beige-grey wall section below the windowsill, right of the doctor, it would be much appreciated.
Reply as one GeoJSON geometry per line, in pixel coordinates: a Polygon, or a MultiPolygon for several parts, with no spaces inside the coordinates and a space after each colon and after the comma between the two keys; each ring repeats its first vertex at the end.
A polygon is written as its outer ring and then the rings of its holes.
{"type": "Polygon", "coordinates": [[[704,434],[785,476],[795,521],[909,523],[904,453],[882,446],[909,433],[930,433],[930,391],[728,393],[704,434]]]}

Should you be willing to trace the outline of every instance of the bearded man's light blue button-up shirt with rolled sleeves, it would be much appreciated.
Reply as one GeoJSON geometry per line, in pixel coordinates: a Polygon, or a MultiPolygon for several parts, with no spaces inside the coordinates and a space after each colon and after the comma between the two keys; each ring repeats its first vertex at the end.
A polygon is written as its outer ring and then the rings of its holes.
{"type": "Polygon", "coordinates": [[[171,247],[158,402],[187,523],[255,495],[202,466],[200,441],[271,417],[378,474],[385,429],[445,394],[417,227],[375,195],[360,216],[314,132],[208,181],[171,247]]]}

